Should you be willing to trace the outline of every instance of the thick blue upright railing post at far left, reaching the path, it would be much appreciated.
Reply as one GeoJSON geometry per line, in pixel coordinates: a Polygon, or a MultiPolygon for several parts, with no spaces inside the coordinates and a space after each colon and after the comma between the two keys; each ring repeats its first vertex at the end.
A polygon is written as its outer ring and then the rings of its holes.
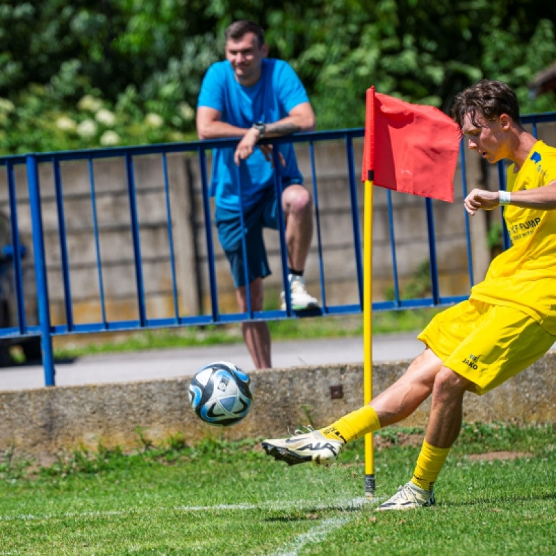
{"type": "Polygon", "coordinates": [[[37,158],[26,156],[27,186],[31,205],[31,229],[33,232],[33,258],[35,259],[35,279],[37,281],[37,304],[39,313],[40,345],[42,366],[44,367],[44,386],[54,386],[54,352],[50,336],[50,309],[47,282],[47,266],[44,262],[44,240],[42,215],[40,211],[39,172],[37,158]]]}

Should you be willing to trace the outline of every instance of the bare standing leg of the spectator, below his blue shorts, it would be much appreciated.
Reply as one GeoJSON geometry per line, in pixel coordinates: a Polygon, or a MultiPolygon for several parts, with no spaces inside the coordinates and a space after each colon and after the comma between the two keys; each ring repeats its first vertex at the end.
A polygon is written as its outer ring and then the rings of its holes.
{"type": "MultiPolygon", "coordinates": [[[[251,309],[253,311],[263,310],[263,279],[254,279],[250,284],[251,309]]],[[[236,288],[236,296],[240,311],[247,311],[247,290],[245,286],[236,288]]],[[[270,332],[264,321],[242,322],[241,331],[247,350],[249,350],[253,363],[258,369],[270,368],[272,366],[270,357],[270,332]]]]}

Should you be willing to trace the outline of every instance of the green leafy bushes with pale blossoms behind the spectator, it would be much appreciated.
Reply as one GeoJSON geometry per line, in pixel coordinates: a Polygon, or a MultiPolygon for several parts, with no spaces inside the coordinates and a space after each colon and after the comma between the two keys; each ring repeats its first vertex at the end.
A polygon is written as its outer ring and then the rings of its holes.
{"type": "Polygon", "coordinates": [[[320,129],[363,126],[370,85],[449,111],[485,76],[515,88],[523,112],[556,109],[527,88],[556,59],[544,0],[5,0],[0,154],[195,138],[202,76],[239,18],[300,74],[320,129]]]}

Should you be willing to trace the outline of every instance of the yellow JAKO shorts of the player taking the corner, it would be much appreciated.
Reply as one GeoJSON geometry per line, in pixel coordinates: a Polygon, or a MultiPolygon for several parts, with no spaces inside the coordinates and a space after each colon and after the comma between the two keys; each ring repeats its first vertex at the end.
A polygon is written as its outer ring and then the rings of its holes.
{"type": "Polygon", "coordinates": [[[464,301],[436,315],[418,336],[445,367],[482,395],[521,373],[556,342],[530,316],[502,305],[464,301]]]}

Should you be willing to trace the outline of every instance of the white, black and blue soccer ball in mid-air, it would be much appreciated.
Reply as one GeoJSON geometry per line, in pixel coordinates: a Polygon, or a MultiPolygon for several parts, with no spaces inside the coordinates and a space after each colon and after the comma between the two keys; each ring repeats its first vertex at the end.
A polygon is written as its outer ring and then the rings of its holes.
{"type": "Polygon", "coordinates": [[[229,427],[251,410],[251,379],[233,363],[211,363],[200,368],[191,380],[189,402],[205,423],[229,427]]]}

